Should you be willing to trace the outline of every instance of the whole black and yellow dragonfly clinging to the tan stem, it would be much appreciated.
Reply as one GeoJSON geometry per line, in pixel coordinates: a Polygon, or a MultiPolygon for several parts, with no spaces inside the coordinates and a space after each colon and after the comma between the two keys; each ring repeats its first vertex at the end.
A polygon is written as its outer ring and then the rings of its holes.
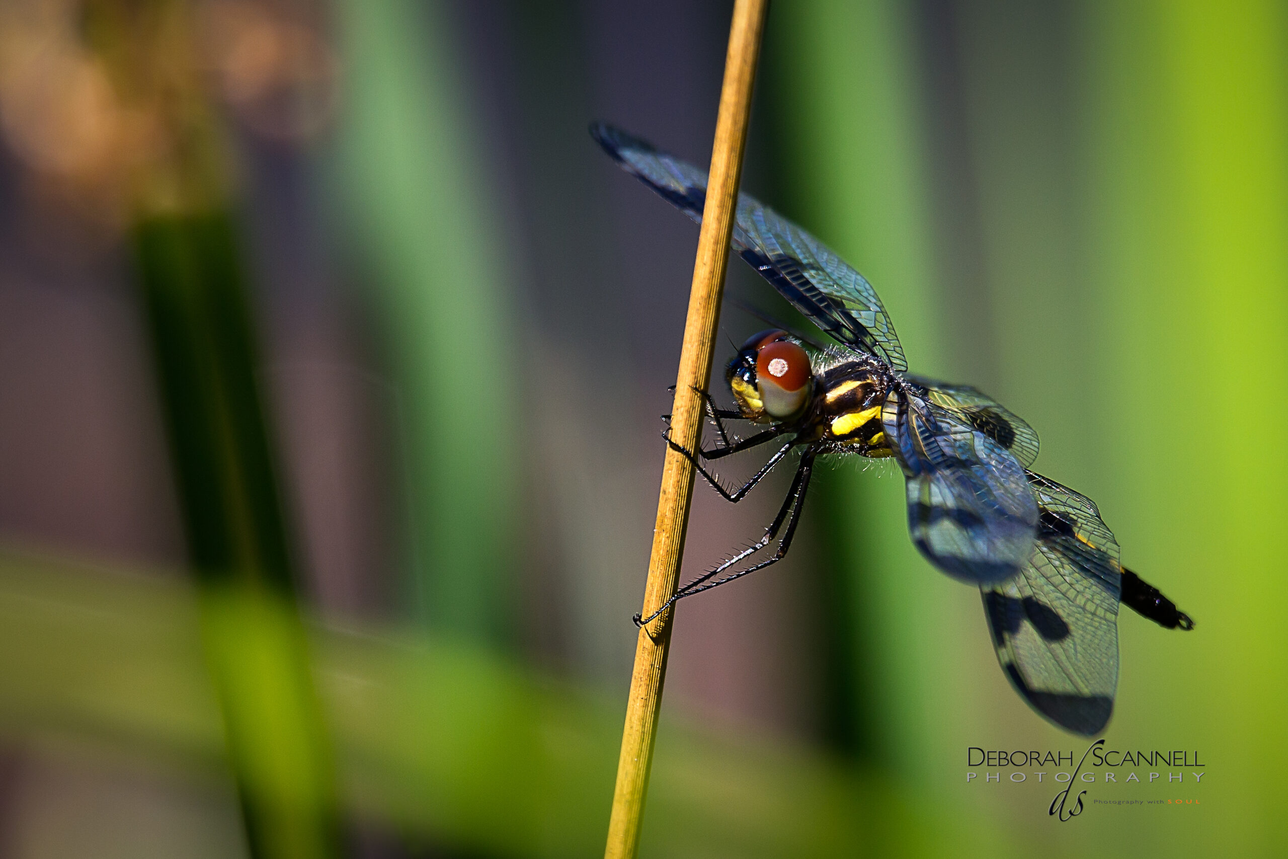
{"type": "MultiPolygon", "coordinates": [[[[703,170],[607,124],[590,133],[621,167],[702,223],[703,170]]],[[[1122,565],[1091,498],[1030,470],[1038,455],[1033,428],[975,388],[908,372],[876,290],[836,252],[747,194],[738,197],[733,250],[831,343],[781,325],[752,335],[725,367],[737,407],[720,408],[698,392],[719,443],[706,448],[699,440],[689,451],[663,433],[732,502],[788,455],[800,458],[759,540],[635,622],[782,560],[819,457],[894,458],[907,480],[912,542],[938,569],[979,587],[1011,686],[1064,730],[1087,737],[1104,730],[1118,685],[1118,607],[1164,628],[1191,630],[1194,621],[1122,565]],[[730,421],[757,431],[738,438],[730,421]],[[708,467],[770,444],[768,461],[742,486],[726,487],[708,467]]]]}

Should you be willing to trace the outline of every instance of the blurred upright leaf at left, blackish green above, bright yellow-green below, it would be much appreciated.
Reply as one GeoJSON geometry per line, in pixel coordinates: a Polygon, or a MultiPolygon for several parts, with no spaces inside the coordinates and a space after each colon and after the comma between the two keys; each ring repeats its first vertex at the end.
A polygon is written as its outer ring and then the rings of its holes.
{"type": "Polygon", "coordinates": [[[335,855],[330,744],[295,616],[290,538],[231,216],[140,218],[135,268],[252,855],[335,855]]]}

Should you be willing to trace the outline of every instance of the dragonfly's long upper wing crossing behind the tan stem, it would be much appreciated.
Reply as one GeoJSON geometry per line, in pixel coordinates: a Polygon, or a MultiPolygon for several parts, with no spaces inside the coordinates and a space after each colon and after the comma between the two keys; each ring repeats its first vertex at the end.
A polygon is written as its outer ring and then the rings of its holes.
{"type": "MultiPolygon", "coordinates": [[[[626,170],[702,223],[706,171],[609,125],[592,125],[590,133],[626,170]]],[[[739,194],[733,247],[831,337],[873,354],[895,370],[908,368],[876,290],[808,232],[752,197],[739,194]]]]}

